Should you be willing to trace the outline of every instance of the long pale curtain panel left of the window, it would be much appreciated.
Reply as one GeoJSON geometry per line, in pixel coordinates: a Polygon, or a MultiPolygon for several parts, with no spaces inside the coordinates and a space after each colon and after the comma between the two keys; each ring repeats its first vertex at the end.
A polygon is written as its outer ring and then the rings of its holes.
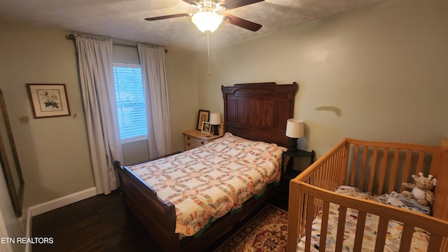
{"type": "Polygon", "coordinates": [[[113,160],[123,160],[113,82],[112,41],[75,36],[81,92],[97,194],[118,188],[113,160]]]}

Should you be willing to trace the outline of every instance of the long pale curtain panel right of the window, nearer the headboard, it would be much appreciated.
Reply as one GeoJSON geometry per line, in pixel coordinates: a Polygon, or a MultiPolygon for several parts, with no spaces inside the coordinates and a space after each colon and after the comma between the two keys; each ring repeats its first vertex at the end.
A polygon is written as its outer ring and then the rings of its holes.
{"type": "Polygon", "coordinates": [[[137,44],[146,92],[148,150],[151,158],[172,152],[165,49],[137,44]]]}

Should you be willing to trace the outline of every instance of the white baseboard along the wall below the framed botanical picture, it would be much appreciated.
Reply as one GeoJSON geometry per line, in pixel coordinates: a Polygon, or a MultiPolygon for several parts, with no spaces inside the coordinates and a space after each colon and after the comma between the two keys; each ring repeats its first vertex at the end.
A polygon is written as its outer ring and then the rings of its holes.
{"type": "MultiPolygon", "coordinates": [[[[49,202],[43,202],[42,204],[38,204],[36,206],[32,206],[29,207],[28,210],[26,211],[27,216],[27,238],[31,237],[31,218],[33,216],[38,216],[39,214],[43,214],[46,213],[48,211],[51,210],[55,210],[58,209],[59,207],[65,207],[66,205],[81,201],[81,200],[85,200],[88,199],[90,197],[93,197],[97,195],[97,188],[88,188],[85,190],[82,190],[78,193],[72,193],[71,195],[66,195],[64,197],[60,197],[58,199],[55,200],[50,200],[49,202]]],[[[31,251],[31,246],[29,246],[29,244],[27,243],[26,247],[25,247],[25,251],[29,252],[31,251]]]]}

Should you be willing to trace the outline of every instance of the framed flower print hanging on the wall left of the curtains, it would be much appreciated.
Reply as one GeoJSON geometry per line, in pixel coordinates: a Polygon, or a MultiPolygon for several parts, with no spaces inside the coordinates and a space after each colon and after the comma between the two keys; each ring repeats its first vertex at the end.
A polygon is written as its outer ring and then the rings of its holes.
{"type": "Polygon", "coordinates": [[[65,84],[27,84],[34,118],[70,116],[65,84]]]}

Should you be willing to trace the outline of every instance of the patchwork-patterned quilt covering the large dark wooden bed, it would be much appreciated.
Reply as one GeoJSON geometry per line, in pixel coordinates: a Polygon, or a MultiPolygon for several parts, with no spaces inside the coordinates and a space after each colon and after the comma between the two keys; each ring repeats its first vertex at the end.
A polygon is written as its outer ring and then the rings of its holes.
{"type": "Polygon", "coordinates": [[[283,151],[276,144],[225,133],[204,146],[128,168],[160,199],[174,204],[176,233],[192,236],[279,182],[283,151]]]}

